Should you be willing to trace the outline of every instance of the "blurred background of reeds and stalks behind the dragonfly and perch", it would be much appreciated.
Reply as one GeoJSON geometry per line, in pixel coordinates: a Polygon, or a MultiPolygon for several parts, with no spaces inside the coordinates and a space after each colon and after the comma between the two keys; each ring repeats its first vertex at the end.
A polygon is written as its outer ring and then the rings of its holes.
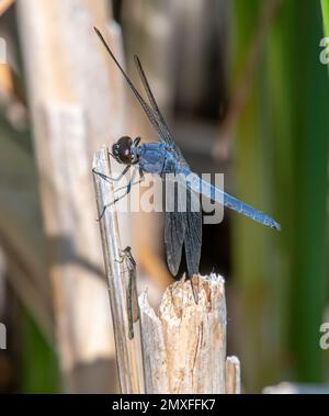
{"type": "MultiPolygon", "coordinates": [[[[327,0],[1,0],[0,391],[118,391],[91,160],[156,137],[93,25],[135,81],[140,57],[193,170],[282,225],[225,212],[203,229],[243,390],[328,382],[327,0]]],[[[162,217],[120,222],[156,304],[172,281],[162,217]]]]}

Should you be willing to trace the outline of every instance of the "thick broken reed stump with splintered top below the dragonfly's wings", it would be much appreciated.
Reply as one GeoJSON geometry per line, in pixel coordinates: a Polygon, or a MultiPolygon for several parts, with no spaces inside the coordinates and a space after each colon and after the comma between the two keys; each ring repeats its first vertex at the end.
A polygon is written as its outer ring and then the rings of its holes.
{"type": "Polygon", "coordinates": [[[158,315],[147,292],[139,296],[139,307],[146,393],[240,393],[239,360],[226,359],[222,277],[174,282],[158,315]]]}

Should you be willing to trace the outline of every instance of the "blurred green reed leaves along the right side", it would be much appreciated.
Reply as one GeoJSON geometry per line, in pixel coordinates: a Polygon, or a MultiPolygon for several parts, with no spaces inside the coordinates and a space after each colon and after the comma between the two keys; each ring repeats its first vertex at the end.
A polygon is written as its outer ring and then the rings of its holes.
{"type": "MultiPolygon", "coordinates": [[[[241,70],[263,2],[235,2],[235,67],[241,70]]],[[[281,2],[235,147],[236,187],[273,214],[282,233],[234,216],[234,267],[243,325],[246,387],[286,376],[320,382],[325,307],[328,81],[319,61],[320,4],[281,2]]]]}

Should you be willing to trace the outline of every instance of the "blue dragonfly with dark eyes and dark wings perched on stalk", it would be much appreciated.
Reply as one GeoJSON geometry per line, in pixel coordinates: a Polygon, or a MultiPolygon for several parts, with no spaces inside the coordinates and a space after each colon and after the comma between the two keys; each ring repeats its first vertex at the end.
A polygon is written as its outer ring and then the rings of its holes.
{"type": "MultiPolygon", "coordinates": [[[[120,164],[126,165],[126,167],[117,178],[106,177],[104,179],[120,180],[132,167],[137,167],[140,175],[139,181],[144,179],[145,172],[158,175],[163,180],[168,173],[171,173],[174,176],[177,184],[185,188],[186,210],[180,209],[180,198],[178,198],[174,209],[166,210],[164,212],[164,246],[170,272],[177,276],[184,247],[188,276],[193,277],[193,274],[198,273],[202,247],[202,210],[198,200],[201,194],[258,223],[280,231],[280,224],[273,218],[202,180],[197,175],[191,171],[189,164],[174,143],[173,136],[158,108],[139,58],[137,56],[134,57],[149,103],[144,100],[135,88],[100,31],[97,27],[94,27],[94,31],[133,90],[159,138],[159,142],[146,144],[139,144],[140,137],[133,139],[128,136],[123,136],[118,138],[112,146],[111,155],[120,164]],[[184,180],[186,178],[189,178],[189,180],[184,180]]],[[[136,172],[136,169],[134,172],[136,172]]],[[[132,184],[134,183],[137,183],[137,181],[134,181],[133,173],[128,185],[123,187],[125,188],[125,193],[121,198],[131,191],[132,184]]],[[[180,195],[182,192],[177,192],[175,194],[180,195]]],[[[118,198],[113,202],[116,201],[118,201],[118,198]]]]}

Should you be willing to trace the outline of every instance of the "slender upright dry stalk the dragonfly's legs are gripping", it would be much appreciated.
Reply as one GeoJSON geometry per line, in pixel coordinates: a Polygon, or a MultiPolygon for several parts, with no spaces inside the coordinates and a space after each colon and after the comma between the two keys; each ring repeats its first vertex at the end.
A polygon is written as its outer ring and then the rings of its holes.
{"type": "MultiPolygon", "coordinates": [[[[109,153],[103,149],[93,159],[93,169],[102,176],[111,177],[109,153]]],[[[113,329],[116,346],[117,368],[122,393],[143,393],[143,367],[140,356],[139,322],[134,325],[134,338],[128,336],[127,285],[128,270],[121,259],[116,205],[104,207],[114,199],[113,185],[102,176],[94,173],[103,256],[107,277],[113,329]]]]}

